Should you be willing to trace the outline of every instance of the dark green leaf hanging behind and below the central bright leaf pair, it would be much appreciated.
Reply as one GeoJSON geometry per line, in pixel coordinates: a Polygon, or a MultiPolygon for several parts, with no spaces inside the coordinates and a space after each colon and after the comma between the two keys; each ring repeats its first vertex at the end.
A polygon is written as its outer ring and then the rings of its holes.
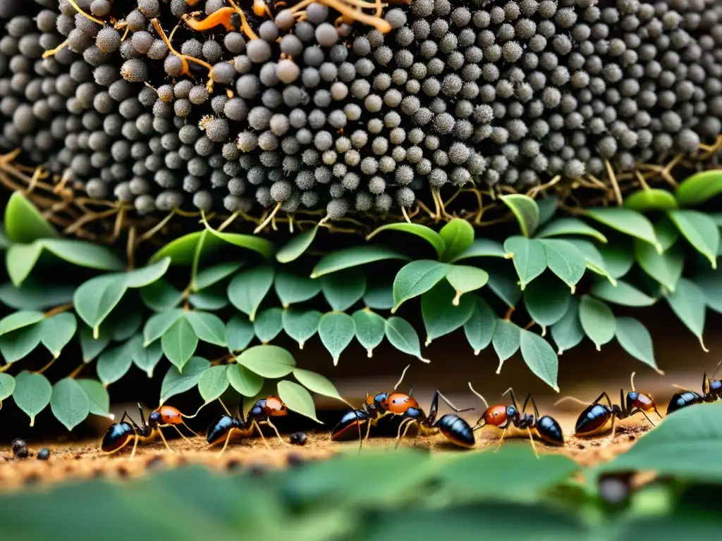
{"type": "Polygon", "coordinates": [[[469,320],[474,312],[474,298],[466,295],[461,302],[456,299],[448,283],[439,282],[421,296],[421,314],[426,328],[426,343],[443,335],[453,333],[469,320]]]}

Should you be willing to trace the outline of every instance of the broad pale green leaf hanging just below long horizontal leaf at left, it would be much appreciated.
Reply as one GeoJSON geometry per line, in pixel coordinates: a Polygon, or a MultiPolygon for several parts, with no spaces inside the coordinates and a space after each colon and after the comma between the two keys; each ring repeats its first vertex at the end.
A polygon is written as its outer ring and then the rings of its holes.
{"type": "Polygon", "coordinates": [[[100,331],[100,324],[121,302],[127,287],[123,274],[108,274],[90,278],[75,290],[75,312],[92,328],[95,338],[100,331]]]}

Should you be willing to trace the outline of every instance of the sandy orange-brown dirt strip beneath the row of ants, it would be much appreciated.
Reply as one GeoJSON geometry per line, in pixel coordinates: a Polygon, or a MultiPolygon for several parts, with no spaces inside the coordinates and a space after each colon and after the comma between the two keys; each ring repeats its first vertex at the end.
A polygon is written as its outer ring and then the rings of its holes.
{"type": "MultiPolygon", "coordinates": [[[[559,416],[565,434],[573,431],[575,415],[559,416]]],[[[604,462],[625,452],[638,437],[649,428],[642,419],[626,419],[617,424],[614,440],[609,434],[593,439],[567,438],[564,447],[549,447],[536,443],[540,453],[561,453],[575,459],[580,465],[593,465],[604,462]]],[[[166,428],[165,434],[172,436],[172,428],[166,428]]],[[[265,430],[264,430],[265,431],[265,430]]],[[[272,433],[271,433],[272,434],[272,433]]],[[[476,449],[491,449],[499,441],[501,431],[488,427],[477,431],[476,449]]],[[[288,434],[282,434],[288,441],[288,434]]],[[[529,441],[525,434],[509,434],[507,439],[529,441]],[[510,437],[511,436],[511,437],[510,437]]],[[[161,467],[175,467],[186,464],[204,464],[219,470],[231,470],[237,467],[286,467],[292,462],[325,459],[333,454],[357,448],[357,441],[334,442],[328,432],[308,433],[305,446],[282,444],[275,436],[267,436],[271,449],[266,448],[260,438],[232,440],[226,451],[219,456],[222,446],[208,447],[205,438],[193,437],[190,441],[181,438],[168,440],[172,452],[168,452],[162,440],[139,444],[134,459],[129,459],[131,446],[115,454],[100,451],[100,441],[87,441],[84,444],[48,445],[51,457],[47,461],[35,458],[39,448],[32,447],[31,456],[19,459],[9,449],[0,450],[0,490],[15,490],[25,485],[49,485],[61,480],[73,480],[92,477],[131,478],[143,475],[149,470],[161,467]]],[[[372,437],[364,449],[386,447],[393,449],[393,437],[372,437]]],[[[407,437],[402,445],[428,449],[431,452],[454,452],[444,436],[407,437]]]]}

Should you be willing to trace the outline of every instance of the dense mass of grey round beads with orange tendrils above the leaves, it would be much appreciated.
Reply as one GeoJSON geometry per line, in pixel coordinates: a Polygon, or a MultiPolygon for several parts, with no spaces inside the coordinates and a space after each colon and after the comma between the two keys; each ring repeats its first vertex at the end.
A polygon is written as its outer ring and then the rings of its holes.
{"type": "Polygon", "coordinates": [[[384,213],[694,153],[712,0],[7,0],[0,151],[90,198],[384,213]]]}

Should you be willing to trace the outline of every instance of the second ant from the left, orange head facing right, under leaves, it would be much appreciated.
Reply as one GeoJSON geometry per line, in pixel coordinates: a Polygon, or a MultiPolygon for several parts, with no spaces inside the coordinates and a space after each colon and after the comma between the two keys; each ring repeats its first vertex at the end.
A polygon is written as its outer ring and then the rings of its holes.
{"type": "Polygon", "coordinates": [[[283,417],[288,415],[286,405],[282,403],[279,398],[274,397],[273,395],[270,395],[267,398],[261,398],[261,400],[258,400],[251,410],[248,411],[248,418],[246,419],[243,418],[243,412],[240,407],[238,408],[238,417],[231,415],[228,410],[226,410],[226,413],[227,415],[221,415],[213,421],[213,423],[211,423],[206,436],[206,441],[208,441],[208,444],[211,446],[219,444],[225,439],[223,449],[221,449],[218,454],[222,454],[226,447],[228,447],[228,442],[234,432],[238,432],[238,436],[241,438],[250,438],[253,435],[254,430],[258,431],[258,434],[261,435],[261,439],[263,439],[264,444],[266,444],[266,447],[270,449],[271,446],[268,441],[266,441],[263,432],[261,432],[261,426],[259,426],[261,424],[266,424],[273,428],[276,432],[276,436],[278,436],[278,439],[282,442],[282,444],[289,445],[281,437],[281,434],[274,423],[271,423],[271,417],[283,417]]]}

